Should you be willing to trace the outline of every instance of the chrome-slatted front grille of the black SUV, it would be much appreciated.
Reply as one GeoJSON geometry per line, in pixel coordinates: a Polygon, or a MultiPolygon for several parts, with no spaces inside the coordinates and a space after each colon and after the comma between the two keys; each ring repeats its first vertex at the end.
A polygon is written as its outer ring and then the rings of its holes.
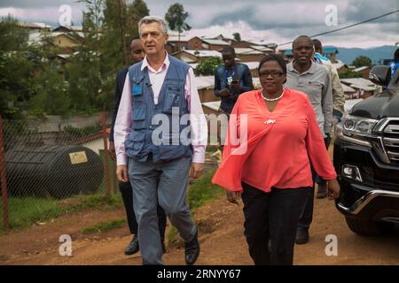
{"type": "Polygon", "coordinates": [[[387,157],[392,164],[399,164],[399,121],[391,120],[384,128],[382,139],[387,157]]]}

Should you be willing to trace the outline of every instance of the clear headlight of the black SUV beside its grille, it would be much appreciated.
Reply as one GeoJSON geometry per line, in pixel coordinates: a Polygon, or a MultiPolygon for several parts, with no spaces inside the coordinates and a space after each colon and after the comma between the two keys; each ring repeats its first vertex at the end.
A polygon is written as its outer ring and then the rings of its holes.
{"type": "Polygon", "coordinates": [[[347,114],[343,117],[342,122],[335,127],[335,135],[348,142],[371,148],[372,144],[364,138],[375,136],[372,133],[372,128],[378,121],[347,114]]]}

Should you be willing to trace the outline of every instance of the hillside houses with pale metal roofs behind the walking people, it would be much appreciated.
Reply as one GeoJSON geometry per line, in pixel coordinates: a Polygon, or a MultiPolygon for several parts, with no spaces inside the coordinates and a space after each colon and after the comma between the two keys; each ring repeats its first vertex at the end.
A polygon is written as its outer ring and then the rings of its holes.
{"type": "MultiPolygon", "coordinates": [[[[54,54],[53,58],[59,60],[62,65],[70,62],[71,57],[76,54],[77,47],[84,39],[82,27],[50,27],[43,23],[20,23],[20,25],[29,30],[29,43],[31,44],[40,43],[43,36],[51,36],[54,46],[58,47],[58,54],[54,54]]],[[[170,33],[166,49],[169,54],[192,65],[192,68],[195,69],[200,62],[209,57],[222,59],[222,50],[227,46],[234,48],[237,62],[248,65],[254,78],[255,87],[257,88],[260,87],[257,68],[262,57],[270,53],[280,52],[286,57],[286,61],[293,59],[291,49],[277,50],[278,45],[276,43],[267,42],[262,39],[237,42],[235,39],[223,36],[223,34],[210,37],[189,36],[187,33],[170,33]]],[[[330,58],[332,65],[339,73],[350,70],[348,65],[345,65],[336,58],[338,53],[339,51],[335,47],[325,47],[325,55],[330,58]]],[[[351,70],[355,73],[361,73],[362,78],[341,80],[347,98],[372,96],[376,91],[376,87],[370,80],[367,80],[370,68],[359,67],[351,70]]],[[[213,94],[213,76],[198,78],[200,78],[198,79],[198,89],[201,102],[207,103],[219,100],[213,94]]]]}

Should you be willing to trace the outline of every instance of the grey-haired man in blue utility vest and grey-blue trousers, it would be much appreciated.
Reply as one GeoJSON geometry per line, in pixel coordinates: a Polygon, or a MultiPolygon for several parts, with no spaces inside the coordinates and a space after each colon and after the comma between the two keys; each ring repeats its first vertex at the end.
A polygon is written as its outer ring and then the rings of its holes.
{"type": "Polygon", "coordinates": [[[133,188],[143,264],[163,264],[157,200],[184,239],[186,264],[194,264],[200,243],[185,195],[189,175],[199,178],[204,169],[207,121],[192,68],[165,50],[165,20],[148,16],[138,29],[146,55],[129,67],[122,91],[113,134],[117,176],[133,188]]]}

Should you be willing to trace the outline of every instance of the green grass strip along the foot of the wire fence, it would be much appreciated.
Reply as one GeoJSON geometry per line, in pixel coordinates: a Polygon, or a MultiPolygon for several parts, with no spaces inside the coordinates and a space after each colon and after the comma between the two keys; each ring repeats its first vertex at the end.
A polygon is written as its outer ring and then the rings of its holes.
{"type": "MultiPolygon", "coordinates": [[[[0,203],[0,221],[3,220],[0,203]]],[[[123,206],[121,194],[116,195],[75,195],[65,200],[52,198],[10,197],[8,199],[10,228],[26,228],[34,223],[58,218],[67,212],[79,210],[117,210],[123,206]]],[[[4,233],[3,223],[0,233],[4,233]]]]}

